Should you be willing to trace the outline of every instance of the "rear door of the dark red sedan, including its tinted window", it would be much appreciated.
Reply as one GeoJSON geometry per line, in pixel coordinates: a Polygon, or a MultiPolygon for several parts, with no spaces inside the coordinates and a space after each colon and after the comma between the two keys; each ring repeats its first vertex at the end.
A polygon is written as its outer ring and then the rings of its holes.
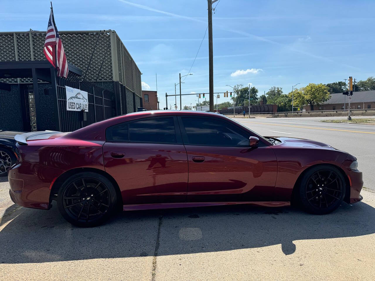
{"type": "Polygon", "coordinates": [[[176,117],[117,124],[106,138],[105,170],[117,181],[124,205],[185,202],[187,157],[176,117]]]}

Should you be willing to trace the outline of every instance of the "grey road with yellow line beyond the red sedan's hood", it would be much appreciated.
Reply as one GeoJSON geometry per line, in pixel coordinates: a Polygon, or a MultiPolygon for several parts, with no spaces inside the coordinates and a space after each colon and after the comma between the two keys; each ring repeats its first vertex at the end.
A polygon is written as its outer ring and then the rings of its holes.
{"type": "MultiPolygon", "coordinates": [[[[359,118],[359,117],[353,117],[359,118]]],[[[375,118],[375,116],[366,116],[375,118]]],[[[349,152],[358,159],[363,185],[375,191],[375,126],[326,123],[321,120],[346,117],[233,118],[262,136],[312,139],[349,152]]]]}

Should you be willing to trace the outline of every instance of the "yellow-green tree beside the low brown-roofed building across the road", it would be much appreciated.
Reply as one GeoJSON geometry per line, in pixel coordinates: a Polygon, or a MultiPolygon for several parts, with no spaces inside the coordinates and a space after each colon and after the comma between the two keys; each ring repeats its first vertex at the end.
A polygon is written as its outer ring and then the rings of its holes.
{"type": "MultiPolygon", "coordinates": [[[[314,105],[319,105],[331,98],[329,88],[323,84],[310,83],[306,87],[293,91],[294,105],[302,107],[303,105],[310,105],[310,109],[314,110],[314,105]]],[[[292,97],[292,92],[288,94],[292,97]]]]}

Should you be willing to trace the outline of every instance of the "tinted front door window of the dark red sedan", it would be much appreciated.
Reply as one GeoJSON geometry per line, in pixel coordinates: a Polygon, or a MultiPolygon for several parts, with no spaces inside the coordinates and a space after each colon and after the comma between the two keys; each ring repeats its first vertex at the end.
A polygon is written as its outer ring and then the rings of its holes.
{"type": "Polygon", "coordinates": [[[249,136],[231,124],[211,118],[181,118],[189,144],[249,146],[249,136]]]}

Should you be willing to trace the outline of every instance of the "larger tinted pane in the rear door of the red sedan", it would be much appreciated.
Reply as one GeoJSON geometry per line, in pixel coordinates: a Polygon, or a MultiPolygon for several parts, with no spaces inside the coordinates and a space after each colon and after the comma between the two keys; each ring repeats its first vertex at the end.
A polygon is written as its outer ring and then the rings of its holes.
{"type": "Polygon", "coordinates": [[[173,117],[146,119],[129,123],[129,141],[177,142],[173,117]]]}

